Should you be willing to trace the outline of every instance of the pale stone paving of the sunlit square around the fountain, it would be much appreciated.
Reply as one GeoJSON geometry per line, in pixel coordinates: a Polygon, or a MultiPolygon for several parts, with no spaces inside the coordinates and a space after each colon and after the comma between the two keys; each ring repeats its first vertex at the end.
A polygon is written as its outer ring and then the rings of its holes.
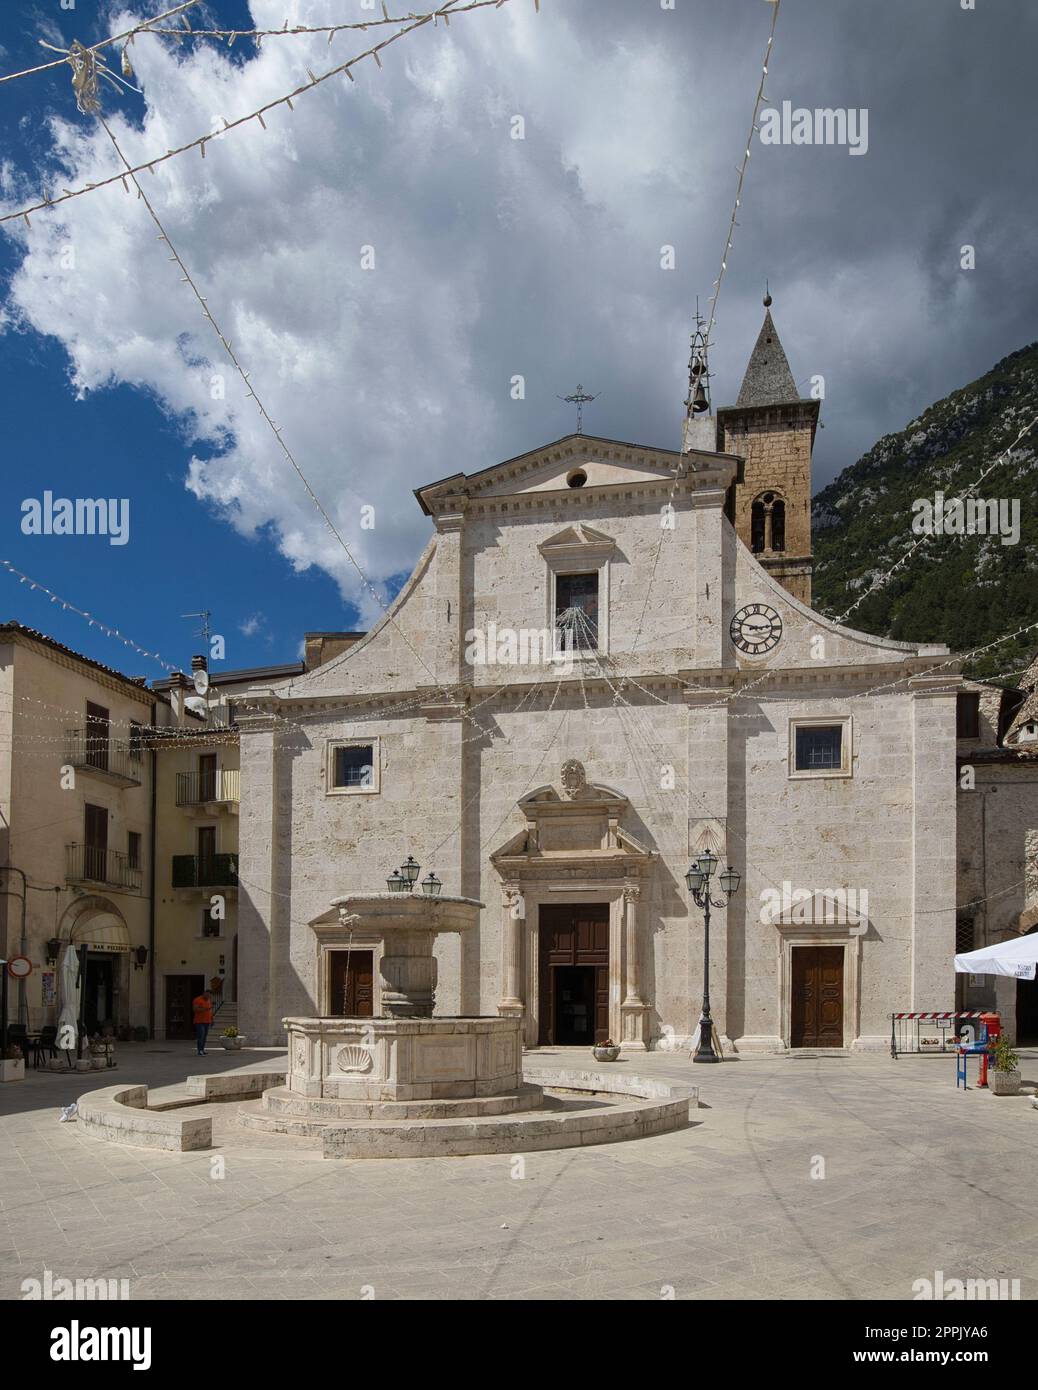
{"type": "MultiPolygon", "coordinates": [[[[561,1062],[534,1052],[527,1072],[561,1062]]],[[[149,1087],[279,1049],[195,1056],[129,1044],[149,1087]]],[[[912,1298],[914,1279],[1020,1279],[1038,1297],[1038,1111],[956,1093],[950,1058],[620,1062],[702,1087],[699,1123],[521,1155],[325,1162],[249,1134],[231,1106],[213,1151],[171,1154],[58,1123],[79,1077],[0,1087],[0,1297],[24,1277],[126,1277],[133,1298],[912,1298]],[[706,1072],[706,1077],[702,1073],[706,1072]],[[69,1094],[71,1093],[71,1094],[69,1094]],[[812,1176],[824,1161],[824,1177],[812,1176]],[[221,1175],[222,1169],[222,1176],[221,1175]]],[[[1024,1052],[1024,1076],[1038,1054],[1024,1052]]]]}

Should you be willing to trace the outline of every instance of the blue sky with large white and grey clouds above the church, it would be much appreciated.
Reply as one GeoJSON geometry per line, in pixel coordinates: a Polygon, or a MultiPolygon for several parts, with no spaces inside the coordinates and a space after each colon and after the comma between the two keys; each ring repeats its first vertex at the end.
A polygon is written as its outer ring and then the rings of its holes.
{"type": "MultiPolygon", "coordinates": [[[[46,58],[39,39],[92,43],[161,7],[7,0],[0,70],[46,58]]],[[[375,13],[211,0],[192,22],[375,13]]],[[[142,175],[374,582],[395,591],[427,538],[415,485],[568,432],[557,396],[578,381],[600,392],[588,432],[678,446],[691,316],[717,275],[770,22],[767,0],[509,0],[142,175]]],[[[257,50],[143,35],[143,95],[106,90],[104,114],[138,163],[374,38],[257,50]]],[[[866,108],[868,147],[755,139],[711,368],[716,403],[732,402],[767,278],[795,377],[825,379],[816,489],[1038,336],[1035,53],[1031,0],[782,0],[767,104],[866,108]]],[[[4,211],[115,171],[68,70],[0,85],[0,121],[4,211]]],[[[306,628],[370,623],[143,204],[117,183],[0,234],[0,553],[176,663],[197,646],[181,614],[200,607],[233,666],[293,659],[306,628]],[[22,535],[21,503],[43,489],[128,498],[129,542],[22,535]]],[[[40,591],[0,585],[4,617],[161,674],[40,591]]]]}

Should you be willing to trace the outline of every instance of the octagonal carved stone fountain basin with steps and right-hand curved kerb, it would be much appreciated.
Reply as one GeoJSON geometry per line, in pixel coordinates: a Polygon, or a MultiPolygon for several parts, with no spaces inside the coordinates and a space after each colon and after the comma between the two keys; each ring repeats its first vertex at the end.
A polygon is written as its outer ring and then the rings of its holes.
{"type": "Polygon", "coordinates": [[[327,1158],[425,1158],[609,1144],[682,1129],[696,1087],[623,1072],[522,1076],[521,1020],[285,1019],[283,1086],[246,1129],[321,1138],[327,1158]]]}

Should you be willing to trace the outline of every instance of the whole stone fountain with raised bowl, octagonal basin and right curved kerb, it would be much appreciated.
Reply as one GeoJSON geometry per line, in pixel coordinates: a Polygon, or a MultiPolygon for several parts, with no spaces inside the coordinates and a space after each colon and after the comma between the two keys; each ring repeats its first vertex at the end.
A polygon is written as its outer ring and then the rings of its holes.
{"type": "Polygon", "coordinates": [[[434,1017],[434,942],[478,927],[475,898],[368,892],[331,906],[338,926],[315,927],[325,944],[381,942],[381,1013],[285,1019],[285,1084],[242,1105],[246,1129],[321,1136],[328,1158],[399,1158],[602,1144],[688,1123],[695,1090],[560,1069],[539,1073],[545,1095],[522,1080],[520,1017],[434,1017]]]}

